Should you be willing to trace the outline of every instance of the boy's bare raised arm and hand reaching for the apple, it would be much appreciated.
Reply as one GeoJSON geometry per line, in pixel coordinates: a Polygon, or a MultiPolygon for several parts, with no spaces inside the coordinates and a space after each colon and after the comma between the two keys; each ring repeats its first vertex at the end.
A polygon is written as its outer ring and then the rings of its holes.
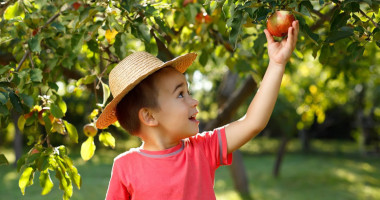
{"type": "Polygon", "coordinates": [[[288,30],[288,37],[281,42],[274,41],[272,35],[264,31],[268,42],[269,65],[246,115],[226,126],[229,153],[255,137],[267,125],[277,100],[285,65],[297,43],[298,31],[299,23],[294,21],[288,30]]]}

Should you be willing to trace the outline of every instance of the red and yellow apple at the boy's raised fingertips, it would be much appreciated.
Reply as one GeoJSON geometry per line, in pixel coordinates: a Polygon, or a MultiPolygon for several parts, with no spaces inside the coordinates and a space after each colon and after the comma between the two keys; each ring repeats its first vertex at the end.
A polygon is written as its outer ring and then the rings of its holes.
{"type": "Polygon", "coordinates": [[[273,13],[267,20],[267,29],[270,34],[283,37],[288,34],[288,28],[292,26],[295,20],[291,12],[278,10],[273,13]]]}

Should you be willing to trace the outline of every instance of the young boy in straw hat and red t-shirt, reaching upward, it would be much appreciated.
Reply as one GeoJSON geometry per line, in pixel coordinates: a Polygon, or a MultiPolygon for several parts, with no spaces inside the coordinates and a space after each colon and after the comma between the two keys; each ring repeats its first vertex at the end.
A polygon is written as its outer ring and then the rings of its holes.
{"type": "Polygon", "coordinates": [[[163,63],[136,52],[122,60],[109,77],[114,99],[96,126],[118,120],[143,144],[115,158],[106,199],[215,199],[215,170],[231,164],[232,152],[269,121],[298,31],[295,21],[288,37],[275,42],[265,30],[270,62],[246,115],[204,133],[198,133],[198,101],[183,75],[196,54],[163,63]]]}

